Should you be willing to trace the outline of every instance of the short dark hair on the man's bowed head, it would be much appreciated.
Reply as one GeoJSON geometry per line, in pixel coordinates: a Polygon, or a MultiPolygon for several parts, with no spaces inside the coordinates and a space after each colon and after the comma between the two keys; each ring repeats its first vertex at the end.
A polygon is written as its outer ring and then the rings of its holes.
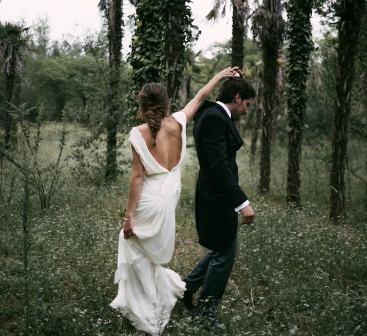
{"type": "Polygon", "coordinates": [[[252,85],[242,78],[230,78],[219,88],[217,101],[224,104],[231,103],[236,94],[240,94],[241,100],[255,97],[255,90],[252,85]]]}

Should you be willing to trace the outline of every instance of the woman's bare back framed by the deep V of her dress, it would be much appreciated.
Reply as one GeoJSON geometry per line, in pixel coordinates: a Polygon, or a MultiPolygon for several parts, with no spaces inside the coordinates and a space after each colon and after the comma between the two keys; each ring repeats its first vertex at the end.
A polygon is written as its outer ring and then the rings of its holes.
{"type": "Polygon", "coordinates": [[[164,118],[153,146],[154,138],[148,124],[137,127],[154,159],[172,170],[179,162],[182,150],[181,125],[174,118],[164,118]]]}

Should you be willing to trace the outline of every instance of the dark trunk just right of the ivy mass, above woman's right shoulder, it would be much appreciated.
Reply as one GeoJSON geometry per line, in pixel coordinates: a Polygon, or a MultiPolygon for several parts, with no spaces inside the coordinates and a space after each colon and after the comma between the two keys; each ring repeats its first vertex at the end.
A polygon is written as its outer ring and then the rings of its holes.
{"type": "Polygon", "coordinates": [[[168,8],[168,24],[165,37],[164,51],[166,55],[167,95],[174,103],[178,88],[181,85],[182,68],[179,59],[185,52],[184,31],[182,30],[182,15],[185,14],[186,0],[176,0],[173,8],[168,8]]]}

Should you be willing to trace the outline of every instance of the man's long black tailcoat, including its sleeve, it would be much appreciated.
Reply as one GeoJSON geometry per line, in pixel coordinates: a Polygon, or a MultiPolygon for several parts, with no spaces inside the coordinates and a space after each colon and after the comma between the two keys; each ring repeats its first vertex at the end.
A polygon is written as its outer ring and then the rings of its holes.
{"type": "Polygon", "coordinates": [[[205,101],[196,113],[195,147],[200,171],[195,216],[199,243],[214,251],[225,250],[235,238],[235,208],[247,200],[238,185],[236,151],[243,141],[227,112],[205,101]]]}

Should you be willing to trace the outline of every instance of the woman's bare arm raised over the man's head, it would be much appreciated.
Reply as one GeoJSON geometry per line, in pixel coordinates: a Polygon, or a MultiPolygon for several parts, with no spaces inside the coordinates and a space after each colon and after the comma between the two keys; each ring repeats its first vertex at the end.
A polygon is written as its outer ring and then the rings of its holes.
{"type": "Polygon", "coordinates": [[[195,112],[198,110],[201,103],[209,96],[209,94],[216,87],[218,82],[222,79],[231,78],[235,76],[235,73],[239,70],[238,66],[227,67],[223,69],[221,72],[218,72],[209,82],[199,90],[196,96],[181,110],[186,114],[187,123],[194,116],[195,112]]]}

